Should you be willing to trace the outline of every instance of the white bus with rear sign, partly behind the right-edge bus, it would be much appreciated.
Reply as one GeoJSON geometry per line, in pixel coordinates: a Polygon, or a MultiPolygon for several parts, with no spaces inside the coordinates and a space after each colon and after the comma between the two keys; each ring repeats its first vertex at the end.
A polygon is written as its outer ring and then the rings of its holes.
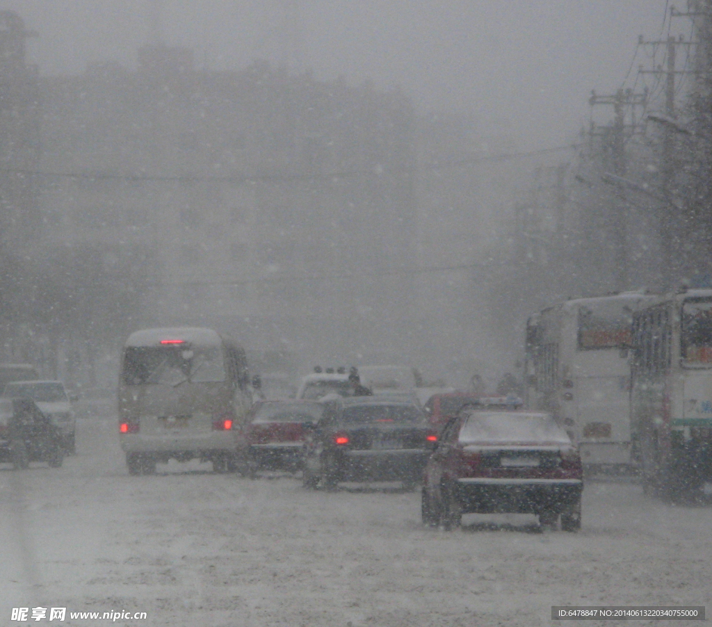
{"type": "Polygon", "coordinates": [[[631,468],[629,418],[634,312],[639,292],[567,300],[530,317],[525,384],[530,409],[553,413],[588,466],[631,468]]]}

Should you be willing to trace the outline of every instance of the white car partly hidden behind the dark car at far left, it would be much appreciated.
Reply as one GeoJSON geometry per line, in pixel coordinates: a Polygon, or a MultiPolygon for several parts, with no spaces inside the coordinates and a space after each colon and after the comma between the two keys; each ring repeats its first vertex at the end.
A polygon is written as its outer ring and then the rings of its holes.
{"type": "Polygon", "coordinates": [[[62,381],[11,381],[6,384],[3,394],[23,396],[35,401],[61,433],[65,453],[68,455],[76,453],[76,419],[70,396],[64,389],[62,381]]]}

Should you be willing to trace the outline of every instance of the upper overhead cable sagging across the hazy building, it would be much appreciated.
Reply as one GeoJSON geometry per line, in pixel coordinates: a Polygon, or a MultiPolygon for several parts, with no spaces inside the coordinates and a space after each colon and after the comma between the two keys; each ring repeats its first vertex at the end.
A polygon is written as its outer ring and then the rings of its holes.
{"type": "Polygon", "coordinates": [[[528,152],[508,152],[503,154],[493,154],[488,157],[466,157],[464,159],[454,159],[452,161],[434,162],[423,166],[410,166],[402,168],[375,167],[372,169],[342,170],[340,172],[327,172],[324,174],[236,174],[232,176],[198,176],[198,175],[159,175],[159,174],[113,174],[110,172],[43,172],[41,170],[29,169],[8,169],[0,168],[0,173],[17,174],[21,176],[41,176],[54,179],[89,179],[89,180],[117,180],[132,182],[177,182],[177,183],[199,183],[199,182],[226,182],[226,183],[251,183],[251,182],[290,182],[290,181],[330,181],[333,179],[348,179],[356,176],[380,176],[382,174],[412,174],[416,172],[437,171],[467,166],[471,164],[508,161],[511,159],[523,159],[535,157],[539,154],[550,152],[562,152],[564,150],[575,150],[579,144],[569,144],[567,146],[557,146],[552,148],[541,148],[528,152]]]}

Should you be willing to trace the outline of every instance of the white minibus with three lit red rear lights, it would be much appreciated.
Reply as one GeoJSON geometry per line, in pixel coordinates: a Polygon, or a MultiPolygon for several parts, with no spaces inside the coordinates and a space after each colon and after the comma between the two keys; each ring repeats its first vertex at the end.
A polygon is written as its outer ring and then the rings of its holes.
{"type": "Polygon", "coordinates": [[[199,327],[147,329],[125,342],[119,376],[120,443],[132,475],[173,458],[248,473],[241,427],[251,407],[245,351],[199,327]]]}

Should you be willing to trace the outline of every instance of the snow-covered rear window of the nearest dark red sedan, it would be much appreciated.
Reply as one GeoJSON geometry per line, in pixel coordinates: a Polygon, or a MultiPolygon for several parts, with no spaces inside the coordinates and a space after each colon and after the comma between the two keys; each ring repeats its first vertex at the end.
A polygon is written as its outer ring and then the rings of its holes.
{"type": "Polygon", "coordinates": [[[460,429],[462,444],[568,444],[554,418],[540,413],[472,413],[460,429]]]}

